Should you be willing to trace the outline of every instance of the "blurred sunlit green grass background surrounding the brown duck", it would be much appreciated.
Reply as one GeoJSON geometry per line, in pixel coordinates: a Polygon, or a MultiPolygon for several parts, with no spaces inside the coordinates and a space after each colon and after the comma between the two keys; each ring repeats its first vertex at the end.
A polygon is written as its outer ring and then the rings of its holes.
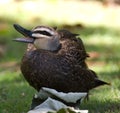
{"type": "Polygon", "coordinates": [[[12,41],[22,36],[14,23],[28,29],[47,25],[79,33],[90,54],[89,68],[112,84],[92,90],[90,100],[80,108],[90,113],[120,112],[120,6],[111,1],[0,1],[0,113],[26,113],[36,92],[19,69],[26,44],[12,41]]]}

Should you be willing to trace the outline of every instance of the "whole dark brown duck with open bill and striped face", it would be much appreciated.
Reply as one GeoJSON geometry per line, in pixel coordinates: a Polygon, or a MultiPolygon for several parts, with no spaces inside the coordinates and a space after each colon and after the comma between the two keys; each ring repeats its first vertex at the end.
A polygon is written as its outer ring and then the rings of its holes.
{"type": "Polygon", "coordinates": [[[28,44],[21,72],[37,91],[47,87],[65,93],[89,92],[98,86],[110,85],[88,68],[89,55],[79,34],[43,25],[32,30],[18,24],[13,26],[23,35],[14,41],[28,44]]]}

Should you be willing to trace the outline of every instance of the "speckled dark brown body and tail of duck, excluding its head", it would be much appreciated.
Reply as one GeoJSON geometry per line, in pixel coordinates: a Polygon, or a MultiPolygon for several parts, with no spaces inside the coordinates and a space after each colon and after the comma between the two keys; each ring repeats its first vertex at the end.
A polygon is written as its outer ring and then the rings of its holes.
{"type": "Polygon", "coordinates": [[[23,56],[21,71],[28,83],[37,91],[41,87],[61,92],[88,92],[106,82],[99,81],[95,72],[87,67],[83,42],[67,30],[58,30],[61,46],[56,51],[29,49],[23,56]]]}

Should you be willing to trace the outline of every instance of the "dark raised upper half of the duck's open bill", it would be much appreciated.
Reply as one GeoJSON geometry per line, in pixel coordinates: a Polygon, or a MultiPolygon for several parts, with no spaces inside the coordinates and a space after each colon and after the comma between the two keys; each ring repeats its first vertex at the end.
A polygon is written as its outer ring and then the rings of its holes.
{"type": "Polygon", "coordinates": [[[13,26],[19,33],[23,34],[25,37],[32,38],[32,32],[30,30],[27,30],[18,24],[14,24],[13,26]]]}

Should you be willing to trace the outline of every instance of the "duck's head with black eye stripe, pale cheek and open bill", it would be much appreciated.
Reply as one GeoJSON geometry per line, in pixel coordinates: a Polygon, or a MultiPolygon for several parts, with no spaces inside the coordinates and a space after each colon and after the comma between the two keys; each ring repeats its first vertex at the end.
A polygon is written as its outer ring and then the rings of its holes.
{"type": "Polygon", "coordinates": [[[60,46],[60,35],[56,29],[46,26],[37,26],[32,30],[27,30],[18,24],[14,28],[23,34],[24,38],[14,39],[18,42],[32,43],[37,49],[55,51],[60,46]]]}

